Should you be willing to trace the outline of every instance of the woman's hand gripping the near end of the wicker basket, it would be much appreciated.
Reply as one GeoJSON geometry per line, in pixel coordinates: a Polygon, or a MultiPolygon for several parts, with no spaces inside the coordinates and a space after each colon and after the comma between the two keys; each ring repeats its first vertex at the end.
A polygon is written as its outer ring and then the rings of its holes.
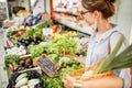
{"type": "Polygon", "coordinates": [[[66,77],[63,79],[65,88],[74,88],[74,82],[76,82],[76,79],[74,77],[70,77],[69,75],[66,75],[66,77]]]}

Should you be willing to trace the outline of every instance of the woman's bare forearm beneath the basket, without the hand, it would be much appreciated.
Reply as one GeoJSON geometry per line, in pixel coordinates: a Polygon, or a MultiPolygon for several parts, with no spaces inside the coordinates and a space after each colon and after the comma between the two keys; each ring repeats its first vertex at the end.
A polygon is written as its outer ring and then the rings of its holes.
{"type": "Polygon", "coordinates": [[[123,88],[123,80],[117,76],[82,81],[81,88],[123,88]]]}

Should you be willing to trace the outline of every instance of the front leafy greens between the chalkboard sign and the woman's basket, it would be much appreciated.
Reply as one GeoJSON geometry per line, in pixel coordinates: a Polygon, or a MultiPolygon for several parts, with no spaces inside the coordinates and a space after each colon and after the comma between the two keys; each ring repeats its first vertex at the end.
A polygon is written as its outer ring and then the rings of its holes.
{"type": "Polygon", "coordinates": [[[43,75],[43,80],[45,81],[46,88],[64,88],[64,84],[62,81],[63,76],[68,74],[69,72],[84,67],[84,65],[67,57],[62,57],[59,63],[61,62],[63,63],[62,68],[53,78],[43,75]]]}

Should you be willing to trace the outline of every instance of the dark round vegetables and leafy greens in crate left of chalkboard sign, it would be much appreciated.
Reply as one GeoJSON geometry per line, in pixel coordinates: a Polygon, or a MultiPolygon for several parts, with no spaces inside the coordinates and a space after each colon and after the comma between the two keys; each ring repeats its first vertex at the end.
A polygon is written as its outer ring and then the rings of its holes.
{"type": "Polygon", "coordinates": [[[33,58],[31,56],[20,57],[19,55],[7,55],[4,56],[6,69],[8,72],[8,76],[11,73],[24,70],[28,68],[33,68],[33,58]]]}

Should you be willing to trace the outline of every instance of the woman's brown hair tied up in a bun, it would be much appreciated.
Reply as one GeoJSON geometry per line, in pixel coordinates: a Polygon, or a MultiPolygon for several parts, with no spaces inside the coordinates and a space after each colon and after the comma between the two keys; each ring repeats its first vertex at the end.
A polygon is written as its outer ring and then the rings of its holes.
{"type": "Polygon", "coordinates": [[[81,4],[90,12],[100,11],[105,19],[108,19],[114,14],[116,0],[81,0],[81,4]]]}

